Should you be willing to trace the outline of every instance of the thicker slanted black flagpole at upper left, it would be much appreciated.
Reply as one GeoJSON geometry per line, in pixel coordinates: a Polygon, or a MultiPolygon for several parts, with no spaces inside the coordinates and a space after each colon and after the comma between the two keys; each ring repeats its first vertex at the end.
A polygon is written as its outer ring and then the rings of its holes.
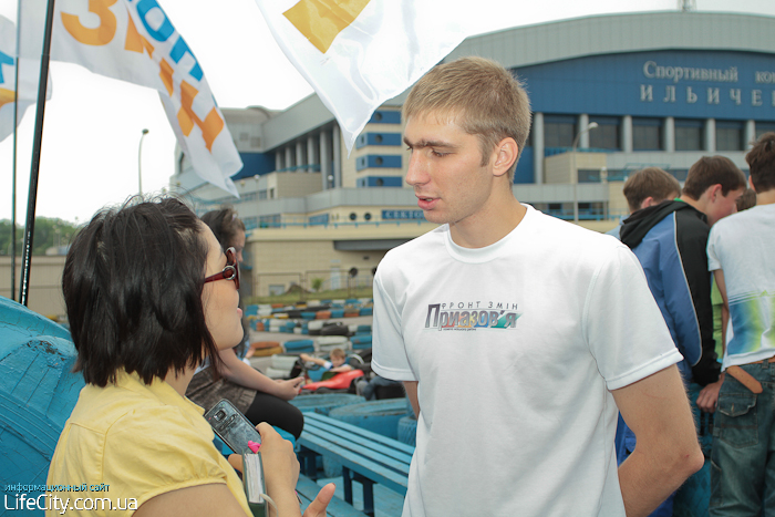
{"type": "Polygon", "coordinates": [[[43,114],[45,112],[45,90],[49,85],[49,52],[51,32],[54,27],[54,0],[49,0],[45,13],[45,37],[40,59],[40,80],[38,82],[38,113],[35,114],[35,134],[32,141],[32,167],[30,169],[30,190],[27,197],[27,226],[24,227],[24,257],[21,263],[21,286],[19,302],[27,307],[30,291],[30,263],[32,260],[32,236],[35,229],[35,203],[38,200],[38,173],[40,172],[40,148],[43,142],[43,114]]]}

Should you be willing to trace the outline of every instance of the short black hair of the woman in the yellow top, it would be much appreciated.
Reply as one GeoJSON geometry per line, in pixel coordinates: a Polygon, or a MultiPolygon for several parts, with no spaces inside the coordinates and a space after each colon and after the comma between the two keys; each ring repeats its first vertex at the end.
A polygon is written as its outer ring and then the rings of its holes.
{"type": "Polygon", "coordinates": [[[196,215],[176,198],[135,197],[105,208],[75,236],[62,275],[74,370],[89,384],[136,372],[146,384],[170,369],[217,370],[202,302],[207,241],[196,215]]]}

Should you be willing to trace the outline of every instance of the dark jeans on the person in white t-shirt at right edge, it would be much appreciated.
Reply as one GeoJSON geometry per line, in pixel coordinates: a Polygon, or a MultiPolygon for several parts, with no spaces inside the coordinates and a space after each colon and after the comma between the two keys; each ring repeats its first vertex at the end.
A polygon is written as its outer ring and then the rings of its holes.
{"type": "Polygon", "coordinates": [[[775,363],[741,366],[752,393],[728,373],[719,394],[711,455],[712,517],[775,516],[775,363]]]}

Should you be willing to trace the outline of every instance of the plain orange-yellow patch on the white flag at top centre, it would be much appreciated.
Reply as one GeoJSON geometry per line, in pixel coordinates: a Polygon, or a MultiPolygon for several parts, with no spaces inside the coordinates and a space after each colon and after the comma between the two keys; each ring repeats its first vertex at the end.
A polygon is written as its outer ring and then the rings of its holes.
{"type": "Polygon", "coordinates": [[[285,17],[312,43],[326,53],[333,39],[369,4],[370,0],[301,0],[285,17]]]}

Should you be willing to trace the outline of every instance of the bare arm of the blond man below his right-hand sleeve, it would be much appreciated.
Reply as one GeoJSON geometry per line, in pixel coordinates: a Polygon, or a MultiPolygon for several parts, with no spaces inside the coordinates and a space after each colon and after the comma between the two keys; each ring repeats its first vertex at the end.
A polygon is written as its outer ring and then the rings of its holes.
{"type": "Polygon", "coordinates": [[[704,463],[689,400],[675,365],[611,393],[638,443],[619,467],[624,508],[647,516],[704,463]]]}

